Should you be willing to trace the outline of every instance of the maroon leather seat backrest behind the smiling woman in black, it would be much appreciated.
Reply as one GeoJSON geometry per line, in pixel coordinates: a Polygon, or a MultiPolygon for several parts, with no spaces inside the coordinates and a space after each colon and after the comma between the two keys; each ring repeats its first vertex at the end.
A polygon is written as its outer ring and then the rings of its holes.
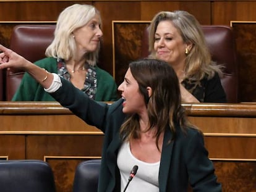
{"type": "MultiPolygon", "coordinates": [[[[221,84],[226,92],[228,102],[238,101],[238,76],[236,45],[233,30],[228,25],[202,25],[205,40],[210,49],[212,60],[221,64],[224,75],[221,84]]],[[[148,28],[145,29],[142,40],[142,57],[148,56],[148,28]]]]}

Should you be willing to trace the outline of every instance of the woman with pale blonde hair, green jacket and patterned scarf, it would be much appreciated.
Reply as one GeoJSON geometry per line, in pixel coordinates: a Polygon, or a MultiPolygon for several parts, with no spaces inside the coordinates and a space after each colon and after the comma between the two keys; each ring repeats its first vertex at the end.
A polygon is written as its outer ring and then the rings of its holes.
{"type": "MultiPolygon", "coordinates": [[[[117,86],[113,77],[96,65],[102,36],[100,12],[95,7],[69,6],[58,17],[47,57],[35,64],[57,73],[96,101],[115,101],[117,86]]],[[[55,99],[25,73],[12,101],[55,99]]]]}

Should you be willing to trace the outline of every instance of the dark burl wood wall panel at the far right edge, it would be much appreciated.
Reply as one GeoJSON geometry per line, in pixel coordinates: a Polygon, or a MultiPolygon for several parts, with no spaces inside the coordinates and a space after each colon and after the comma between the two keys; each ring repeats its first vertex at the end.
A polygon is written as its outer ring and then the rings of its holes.
{"type": "Polygon", "coordinates": [[[255,102],[256,22],[231,21],[237,48],[239,99],[255,102]],[[244,46],[248,44],[250,46],[244,46]]]}

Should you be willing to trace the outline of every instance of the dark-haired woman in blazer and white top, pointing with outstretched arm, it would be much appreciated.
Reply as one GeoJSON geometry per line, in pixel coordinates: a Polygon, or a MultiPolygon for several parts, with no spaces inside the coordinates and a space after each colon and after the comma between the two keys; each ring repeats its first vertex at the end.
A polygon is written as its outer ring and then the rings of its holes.
{"type": "Polygon", "coordinates": [[[194,191],[221,191],[203,135],[187,120],[179,80],[167,62],[131,62],[118,88],[122,98],[109,105],[10,49],[0,50],[0,69],[26,70],[62,106],[105,133],[98,191],[182,192],[189,184],[194,191]],[[139,169],[129,183],[134,165],[139,169]]]}

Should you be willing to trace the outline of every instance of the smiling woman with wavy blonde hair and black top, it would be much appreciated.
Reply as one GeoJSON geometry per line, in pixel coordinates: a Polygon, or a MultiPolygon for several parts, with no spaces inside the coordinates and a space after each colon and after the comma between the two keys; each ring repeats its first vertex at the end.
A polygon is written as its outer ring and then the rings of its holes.
{"type": "Polygon", "coordinates": [[[150,58],[168,62],[179,78],[183,102],[226,102],[221,66],[211,61],[202,28],[183,10],[153,17],[149,31],[150,58]]]}

